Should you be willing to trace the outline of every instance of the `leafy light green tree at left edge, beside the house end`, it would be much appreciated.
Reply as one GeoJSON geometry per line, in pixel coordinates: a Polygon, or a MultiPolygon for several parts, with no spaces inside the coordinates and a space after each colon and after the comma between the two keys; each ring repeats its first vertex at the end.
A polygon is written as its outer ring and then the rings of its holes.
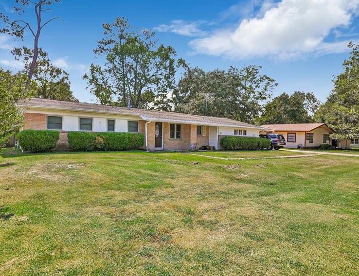
{"type": "Polygon", "coordinates": [[[31,97],[36,83],[24,74],[12,74],[0,68],[0,145],[23,126],[24,115],[16,106],[19,99],[31,97]]]}

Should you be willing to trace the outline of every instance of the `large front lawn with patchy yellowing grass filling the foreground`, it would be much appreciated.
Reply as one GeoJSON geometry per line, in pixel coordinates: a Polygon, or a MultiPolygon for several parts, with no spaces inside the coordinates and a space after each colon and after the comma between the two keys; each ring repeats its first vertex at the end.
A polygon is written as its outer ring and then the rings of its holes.
{"type": "Polygon", "coordinates": [[[1,276],[358,275],[359,158],[4,156],[1,276]]]}

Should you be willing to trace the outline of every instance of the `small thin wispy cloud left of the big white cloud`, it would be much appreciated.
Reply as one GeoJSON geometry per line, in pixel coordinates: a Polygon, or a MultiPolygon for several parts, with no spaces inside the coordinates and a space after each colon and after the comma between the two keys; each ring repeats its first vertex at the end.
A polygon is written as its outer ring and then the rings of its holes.
{"type": "Polygon", "coordinates": [[[199,26],[205,24],[206,21],[195,21],[195,22],[186,22],[183,20],[172,20],[171,24],[161,24],[154,28],[154,30],[159,32],[166,33],[175,33],[178,35],[185,36],[199,36],[205,35],[206,32],[202,31],[199,26]]]}

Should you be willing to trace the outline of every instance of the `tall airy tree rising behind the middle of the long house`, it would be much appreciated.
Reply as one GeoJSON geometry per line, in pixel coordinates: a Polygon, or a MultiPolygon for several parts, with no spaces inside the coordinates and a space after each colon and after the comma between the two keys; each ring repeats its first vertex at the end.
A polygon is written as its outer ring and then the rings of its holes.
{"type": "Polygon", "coordinates": [[[84,75],[88,87],[101,104],[151,107],[155,97],[167,94],[175,84],[176,52],[162,44],[157,47],[154,33],[136,31],[124,17],[103,24],[104,38],[94,53],[105,63],[90,65],[84,75]]]}

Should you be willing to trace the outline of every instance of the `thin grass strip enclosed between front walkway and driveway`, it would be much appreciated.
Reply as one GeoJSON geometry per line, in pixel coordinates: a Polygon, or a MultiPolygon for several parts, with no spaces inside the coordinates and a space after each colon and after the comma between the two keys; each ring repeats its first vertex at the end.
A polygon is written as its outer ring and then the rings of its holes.
{"type": "Polygon", "coordinates": [[[214,152],[194,152],[197,155],[207,155],[222,158],[251,158],[251,157],[270,157],[285,155],[304,155],[305,153],[293,153],[283,150],[259,150],[259,151],[214,151],[214,152]]]}

